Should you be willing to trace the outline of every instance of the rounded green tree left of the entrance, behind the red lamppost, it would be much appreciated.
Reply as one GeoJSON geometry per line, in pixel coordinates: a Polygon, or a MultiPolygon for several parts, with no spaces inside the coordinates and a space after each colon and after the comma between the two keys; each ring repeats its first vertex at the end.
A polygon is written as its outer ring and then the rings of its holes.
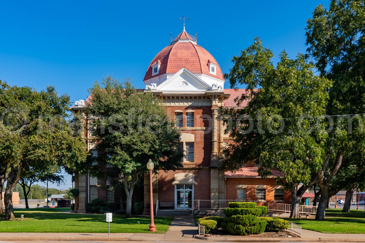
{"type": "Polygon", "coordinates": [[[154,170],[181,167],[183,151],[180,133],[170,122],[161,99],[151,92],[138,91],[129,81],[112,77],[95,83],[89,90],[92,103],[87,114],[94,118],[93,142],[103,151],[97,159],[113,166],[123,181],[127,196],[126,217],[131,217],[132,195],[139,179],[146,175],[149,158],[154,170]]]}

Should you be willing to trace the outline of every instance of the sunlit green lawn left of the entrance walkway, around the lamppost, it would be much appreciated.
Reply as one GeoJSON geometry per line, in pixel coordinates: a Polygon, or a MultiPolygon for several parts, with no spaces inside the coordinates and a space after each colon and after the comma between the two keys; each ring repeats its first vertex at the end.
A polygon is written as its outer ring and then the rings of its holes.
{"type": "MultiPolygon", "coordinates": [[[[31,208],[15,209],[16,221],[4,221],[0,215],[0,232],[64,232],[64,233],[107,233],[108,223],[103,214],[64,213],[69,208],[31,208]],[[24,220],[20,221],[20,215],[24,220]]],[[[155,217],[157,232],[164,234],[173,217],[155,217]]],[[[111,233],[150,233],[149,217],[126,219],[124,215],[113,215],[110,223],[111,233]],[[140,224],[137,224],[137,221],[140,224]]]]}

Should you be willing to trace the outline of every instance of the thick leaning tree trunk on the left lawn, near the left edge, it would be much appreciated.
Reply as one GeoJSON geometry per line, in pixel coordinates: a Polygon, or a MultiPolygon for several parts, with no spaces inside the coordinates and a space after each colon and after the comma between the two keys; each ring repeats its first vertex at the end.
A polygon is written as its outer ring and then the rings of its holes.
{"type": "Polygon", "coordinates": [[[13,208],[13,191],[16,184],[22,175],[23,168],[18,166],[18,168],[12,167],[9,175],[8,181],[6,183],[5,195],[4,195],[4,203],[5,203],[5,220],[15,220],[14,216],[14,208],[13,208]]]}

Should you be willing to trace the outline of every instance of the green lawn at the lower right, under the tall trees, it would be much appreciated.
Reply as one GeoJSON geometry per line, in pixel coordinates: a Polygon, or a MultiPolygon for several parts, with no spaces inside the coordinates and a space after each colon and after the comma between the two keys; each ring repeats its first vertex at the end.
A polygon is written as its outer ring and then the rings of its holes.
{"type": "Polygon", "coordinates": [[[351,209],[349,213],[341,213],[341,209],[327,209],[324,220],[284,219],[301,225],[305,230],[322,233],[365,234],[364,210],[351,209]]]}

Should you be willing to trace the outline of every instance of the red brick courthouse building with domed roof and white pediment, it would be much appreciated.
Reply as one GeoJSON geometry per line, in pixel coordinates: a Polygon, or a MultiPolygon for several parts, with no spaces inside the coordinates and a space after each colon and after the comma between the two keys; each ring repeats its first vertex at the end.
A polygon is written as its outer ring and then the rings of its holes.
{"type": "MultiPolygon", "coordinates": [[[[166,111],[180,128],[181,146],[186,153],[183,168],[160,170],[153,175],[154,204],[158,199],[160,204],[174,209],[191,209],[194,200],[290,200],[289,192],[275,183],[274,177],[280,176],[277,171],[271,178],[261,179],[254,163],[235,173],[218,170],[219,150],[230,140],[223,132],[223,122],[217,119],[219,108],[237,107],[234,99],[245,90],[223,88],[225,80],[218,62],[197,45],[196,36],[184,29],[172,37],[170,45],[151,61],[143,81],[146,90],[163,100],[166,111]]],[[[82,111],[83,102],[76,102],[72,109],[82,111]]],[[[88,144],[88,149],[97,156],[95,146],[88,144]]],[[[76,173],[75,187],[80,190],[78,212],[85,211],[85,203],[95,198],[114,201],[114,194],[103,189],[107,185],[106,180],[76,173]]],[[[144,203],[147,212],[149,176],[144,179],[144,203]]]]}

